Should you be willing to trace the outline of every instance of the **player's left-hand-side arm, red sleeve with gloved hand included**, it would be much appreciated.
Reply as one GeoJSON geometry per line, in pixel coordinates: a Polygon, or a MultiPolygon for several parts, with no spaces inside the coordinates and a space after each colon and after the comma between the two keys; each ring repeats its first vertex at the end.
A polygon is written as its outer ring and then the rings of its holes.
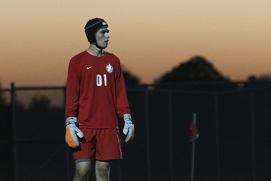
{"type": "Polygon", "coordinates": [[[77,71],[75,60],[71,59],[68,68],[67,88],[66,88],[66,112],[65,124],[66,135],[65,140],[70,147],[76,148],[79,146],[79,138],[83,137],[83,133],[76,127],[77,122],[77,107],[79,101],[80,78],[77,71]],[[77,136],[76,136],[77,135],[77,136]]]}

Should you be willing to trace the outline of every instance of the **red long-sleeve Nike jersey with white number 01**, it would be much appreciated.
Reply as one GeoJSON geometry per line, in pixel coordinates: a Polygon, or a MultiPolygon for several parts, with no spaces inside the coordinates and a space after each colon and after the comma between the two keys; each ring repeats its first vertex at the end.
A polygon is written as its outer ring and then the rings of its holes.
{"type": "Polygon", "coordinates": [[[117,115],[126,113],[130,110],[119,58],[87,51],[74,56],[68,68],[65,119],[77,117],[82,128],[118,128],[117,115]]]}

